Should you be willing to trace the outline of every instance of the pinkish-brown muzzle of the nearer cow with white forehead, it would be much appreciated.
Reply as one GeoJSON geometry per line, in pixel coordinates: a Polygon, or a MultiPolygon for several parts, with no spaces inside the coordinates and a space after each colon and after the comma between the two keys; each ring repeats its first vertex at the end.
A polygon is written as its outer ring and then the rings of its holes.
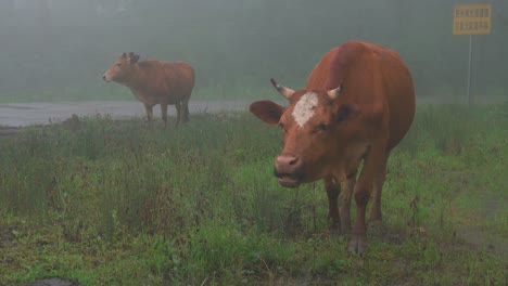
{"type": "Polygon", "coordinates": [[[292,154],[281,154],[275,161],[274,174],[284,187],[296,187],[302,183],[302,160],[292,154]]]}

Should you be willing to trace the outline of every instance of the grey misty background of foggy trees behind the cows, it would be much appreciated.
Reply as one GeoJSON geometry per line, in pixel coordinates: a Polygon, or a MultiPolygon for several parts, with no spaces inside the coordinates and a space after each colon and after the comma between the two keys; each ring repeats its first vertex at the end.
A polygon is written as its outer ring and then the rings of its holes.
{"type": "MultiPolygon", "coordinates": [[[[492,34],[473,39],[475,99],[508,96],[508,1],[491,2],[492,34]]],[[[267,98],[270,77],[302,88],[327,51],[355,39],[398,52],[417,96],[466,98],[469,36],[452,34],[460,3],[1,0],[0,101],[134,100],[101,80],[122,52],[190,63],[192,99],[267,98]]]]}

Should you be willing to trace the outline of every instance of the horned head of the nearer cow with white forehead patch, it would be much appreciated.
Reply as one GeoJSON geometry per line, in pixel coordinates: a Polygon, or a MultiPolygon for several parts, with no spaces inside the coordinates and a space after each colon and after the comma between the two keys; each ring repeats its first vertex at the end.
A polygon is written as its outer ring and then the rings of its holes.
{"type": "Polygon", "coordinates": [[[251,113],[268,125],[279,125],[284,146],[275,161],[275,176],[287,187],[313,182],[327,176],[338,159],[344,126],[357,114],[354,104],[341,103],[341,89],[292,90],[271,83],[289,100],[283,107],[271,101],[254,102],[251,113]]]}

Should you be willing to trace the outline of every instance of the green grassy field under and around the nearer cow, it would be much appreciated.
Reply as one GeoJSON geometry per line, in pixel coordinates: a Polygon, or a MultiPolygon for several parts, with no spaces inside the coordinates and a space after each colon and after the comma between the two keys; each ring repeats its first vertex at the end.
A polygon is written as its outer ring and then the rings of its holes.
{"type": "Polygon", "coordinates": [[[363,257],[321,182],[278,185],[279,132],[224,113],[1,138],[0,285],[507,285],[507,104],[419,106],[363,257]]]}

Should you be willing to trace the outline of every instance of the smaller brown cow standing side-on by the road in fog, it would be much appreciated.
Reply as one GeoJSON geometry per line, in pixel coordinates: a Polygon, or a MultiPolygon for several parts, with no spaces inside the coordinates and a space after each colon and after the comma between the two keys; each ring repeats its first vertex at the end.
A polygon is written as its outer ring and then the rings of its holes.
{"type": "Polygon", "coordinates": [[[144,104],[149,121],[153,118],[155,104],[161,104],[164,127],[167,125],[167,105],[176,106],[177,125],[189,121],[189,99],[194,87],[192,67],[183,62],[138,61],[139,55],[123,53],[102,79],[128,87],[144,104]]]}

